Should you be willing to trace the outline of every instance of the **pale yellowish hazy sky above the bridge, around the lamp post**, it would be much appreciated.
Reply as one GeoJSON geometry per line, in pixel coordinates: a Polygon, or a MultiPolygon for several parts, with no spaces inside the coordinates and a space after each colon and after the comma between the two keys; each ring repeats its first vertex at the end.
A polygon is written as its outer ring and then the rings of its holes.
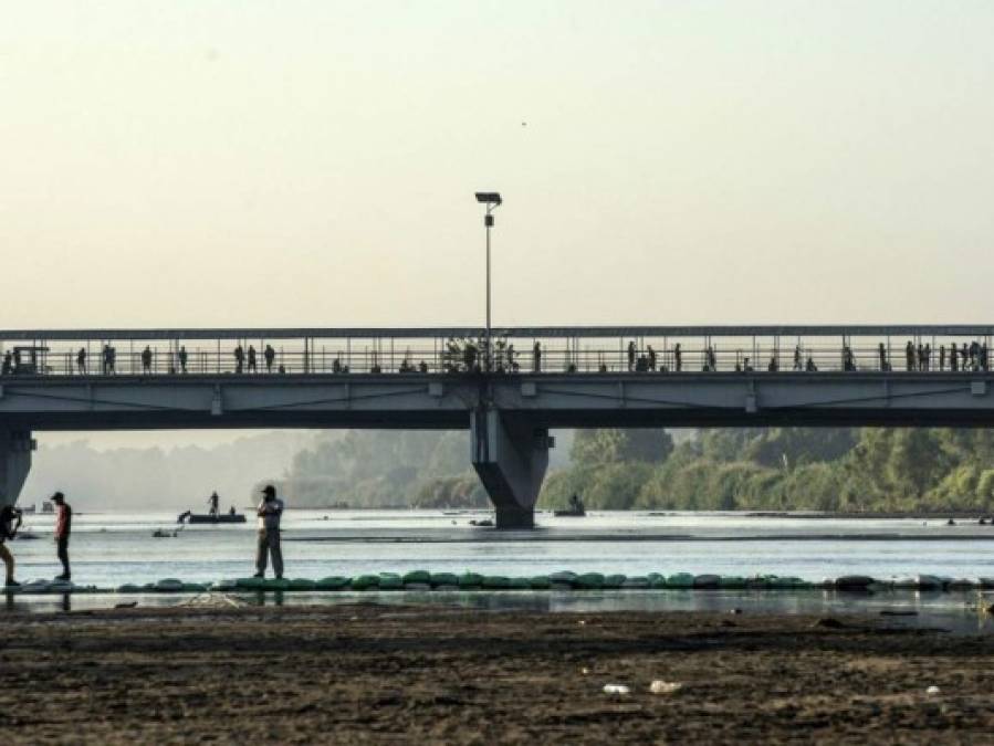
{"type": "Polygon", "coordinates": [[[988,1],[0,9],[3,327],[994,317],[988,1]]]}

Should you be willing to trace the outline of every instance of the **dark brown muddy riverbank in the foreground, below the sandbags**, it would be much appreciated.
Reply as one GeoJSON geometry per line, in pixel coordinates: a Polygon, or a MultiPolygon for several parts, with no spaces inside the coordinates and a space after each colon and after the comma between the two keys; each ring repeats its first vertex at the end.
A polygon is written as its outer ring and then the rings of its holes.
{"type": "Polygon", "coordinates": [[[994,743],[991,637],[217,600],[3,617],[0,743],[994,743]]]}

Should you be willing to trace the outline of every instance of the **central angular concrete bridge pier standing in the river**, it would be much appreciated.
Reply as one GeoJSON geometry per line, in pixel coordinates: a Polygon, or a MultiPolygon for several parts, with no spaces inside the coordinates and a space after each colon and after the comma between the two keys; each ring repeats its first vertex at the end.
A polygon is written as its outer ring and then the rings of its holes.
{"type": "Polygon", "coordinates": [[[472,412],[471,434],[473,469],[496,511],[496,527],[534,528],[548,467],[548,430],[489,409],[472,412]]]}

